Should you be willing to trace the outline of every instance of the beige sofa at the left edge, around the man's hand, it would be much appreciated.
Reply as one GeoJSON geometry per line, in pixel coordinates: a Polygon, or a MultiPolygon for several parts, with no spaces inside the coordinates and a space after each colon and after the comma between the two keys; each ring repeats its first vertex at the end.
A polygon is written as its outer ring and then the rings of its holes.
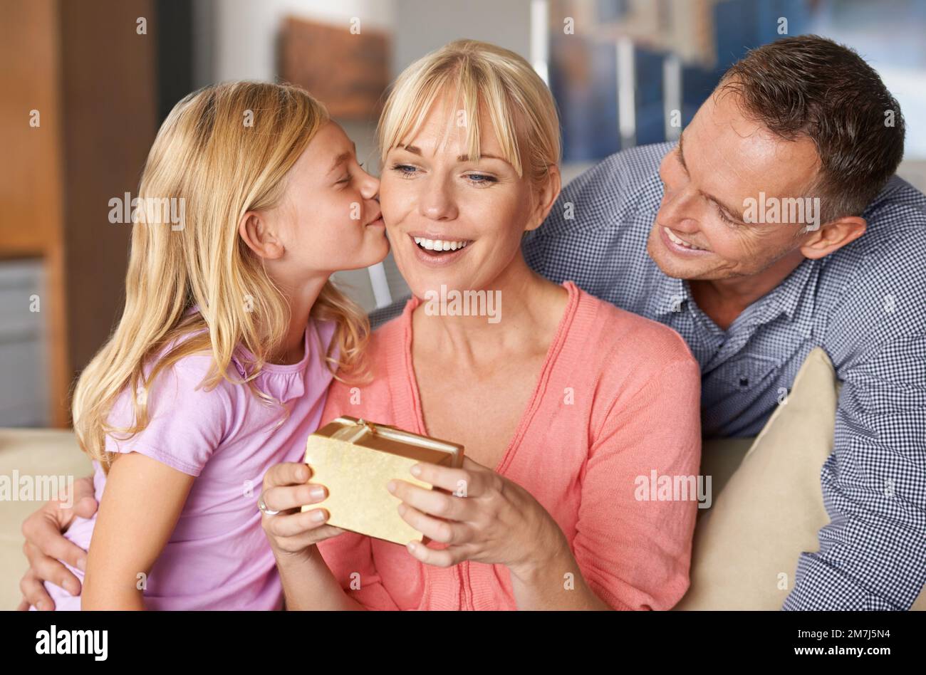
{"type": "MultiPolygon", "coordinates": [[[[81,452],[73,431],[51,429],[0,429],[0,476],[68,476],[93,473],[90,459],[81,452]]],[[[42,501],[4,502],[0,509],[0,610],[16,609],[22,595],[19,580],[29,567],[22,554],[22,521],[42,501]]]]}

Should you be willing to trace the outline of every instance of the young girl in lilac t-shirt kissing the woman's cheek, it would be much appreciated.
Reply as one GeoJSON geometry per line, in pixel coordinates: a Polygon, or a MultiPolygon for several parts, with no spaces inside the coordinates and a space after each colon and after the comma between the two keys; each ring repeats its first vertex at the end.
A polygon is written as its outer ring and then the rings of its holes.
{"type": "Polygon", "coordinates": [[[89,545],[81,596],[45,584],[58,609],[281,607],[260,484],[301,461],[333,373],[362,370],[369,324],[329,277],[386,255],[378,190],[297,88],[174,107],[132,205],[122,318],[74,393],[100,507],[67,533],[89,545]]]}

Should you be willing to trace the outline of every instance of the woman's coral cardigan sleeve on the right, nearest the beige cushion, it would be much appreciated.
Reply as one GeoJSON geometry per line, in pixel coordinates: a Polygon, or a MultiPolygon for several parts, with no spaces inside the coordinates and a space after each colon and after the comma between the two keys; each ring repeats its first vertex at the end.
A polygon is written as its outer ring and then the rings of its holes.
{"type": "Polygon", "coordinates": [[[688,589],[700,382],[694,358],[669,362],[640,391],[615,400],[590,449],[573,555],[615,609],[669,609],[688,589]],[[667,480],[687,494],[650,490],[667,480]]]}

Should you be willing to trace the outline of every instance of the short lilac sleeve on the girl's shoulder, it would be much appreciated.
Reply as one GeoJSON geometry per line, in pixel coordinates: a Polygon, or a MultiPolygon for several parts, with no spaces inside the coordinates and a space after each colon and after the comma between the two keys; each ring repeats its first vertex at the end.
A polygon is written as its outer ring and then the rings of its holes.
{"type": "MultiPolygon", "coordinates": [[[[145,395],[148,424],[131,438],[106,434],[106,451],[137,452],[191,476],[198,476],[225,436],[232,419],[231,397],[221,383],[212,391],[198,388],[206,376],[206,359],[188,358],[158,373],[145,395]]],[[[110,425],[126,428],[135,420],[131,392],[119,394],[110,425]]]]}

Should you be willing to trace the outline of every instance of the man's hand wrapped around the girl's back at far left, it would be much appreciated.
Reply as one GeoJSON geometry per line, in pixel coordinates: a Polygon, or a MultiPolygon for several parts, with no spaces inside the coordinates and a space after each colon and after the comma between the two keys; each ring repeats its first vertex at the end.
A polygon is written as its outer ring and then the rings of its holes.
{"type": "Polygon", "coordinates": [[[91,518],[97,506],[94,479],[81,478],[74,481],[73,500],[53,499],[23,521],[22,533],[26,544],[22,550],[29,558],[29,569],[19,581],[23,597],[19,610],[28,610],[30,605],[42,610],[55,608],[55,602],[45,592],[43,581],[51,581],[71,595],[81,594],[81,581],[61,561],[84,569],[87,552],[65,539],[63,532],[68,530],[75,516],[91,518]]]}

